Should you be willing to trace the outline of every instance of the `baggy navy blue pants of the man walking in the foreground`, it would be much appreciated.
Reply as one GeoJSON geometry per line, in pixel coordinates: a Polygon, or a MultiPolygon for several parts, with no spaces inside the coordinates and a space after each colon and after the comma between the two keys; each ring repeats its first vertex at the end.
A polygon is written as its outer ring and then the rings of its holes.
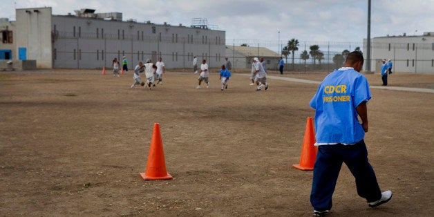
{"type": "Polygon", "coordinates": [[[368,162],[368,151],[364,140],[353,145],[321,145],[318,147],[310,194],[310,203],[315,210],[332,209],[332,195],[342,162],[345,162],[352,176],[355,177],[359,196],[366,198],[367,202],[381,198],[377,178],[368,162]]]}

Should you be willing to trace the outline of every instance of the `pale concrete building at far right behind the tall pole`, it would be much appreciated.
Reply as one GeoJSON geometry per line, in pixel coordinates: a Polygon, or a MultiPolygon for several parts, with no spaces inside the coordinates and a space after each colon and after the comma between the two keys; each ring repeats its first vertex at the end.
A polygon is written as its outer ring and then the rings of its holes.
{"type": "MultiPolygon", "coordinates": [[[[366,50],[364,39],[364,50],[366,50]]],[[[382,59],[393,62],[393,72],[434,73],[434,32],[423,35],[375,37],[371,39],[371,70],[381,71],[382,59]]],[[[364,53],[366,59],[366,52],[364,53]]],[[[364,64],[366,70],[366,64],[364,64]]]]}

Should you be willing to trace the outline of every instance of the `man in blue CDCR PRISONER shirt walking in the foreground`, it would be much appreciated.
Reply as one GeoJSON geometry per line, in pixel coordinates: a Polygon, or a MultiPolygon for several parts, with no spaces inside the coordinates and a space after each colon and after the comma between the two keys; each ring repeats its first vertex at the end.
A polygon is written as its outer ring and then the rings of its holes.
{"type": "Polygon", "coordinates": [[[314,216],[325,216],[332,208],[343,162],[355,177],[357,194],[366,199],[369,207],[378,207],[392,198],[392,191],[381,193],[368,162],[364,136],[368,132],[366,104],[371,95],[368,80],[359,73],[363,64],[361,53],[350,53],[345,66],[325,77],[310,101],[315,109],[314,145],[318,147],[310,194],[314,216]]]}

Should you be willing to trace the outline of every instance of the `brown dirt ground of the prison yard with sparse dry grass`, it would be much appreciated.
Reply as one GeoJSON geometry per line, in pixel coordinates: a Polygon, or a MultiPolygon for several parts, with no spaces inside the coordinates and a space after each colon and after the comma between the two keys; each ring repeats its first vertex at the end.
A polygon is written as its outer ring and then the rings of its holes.
{"type": "MultiPolygon", "coordinates": [[[[0,216],[311,216],[312,171],[301,155],[317,84],[269,79],[254,91],[233,73],[220,91],[169,71],[131,89],[131,72],[0,73],[0,216]],[[173,180],[144,181],[160,123],[173,180]]],[[[278,75],[321,81],[327,73],[278,75]]],[[[380,75],[366,75],[371,86],[380,75]]],[[[390,86],[434,89],[434,75],[393,74],[390,86]]],[[[368,157],[390,202],[371,209],[342,167],[330,216],[432,216],[434,94],[372,88],[368,157]]]]}

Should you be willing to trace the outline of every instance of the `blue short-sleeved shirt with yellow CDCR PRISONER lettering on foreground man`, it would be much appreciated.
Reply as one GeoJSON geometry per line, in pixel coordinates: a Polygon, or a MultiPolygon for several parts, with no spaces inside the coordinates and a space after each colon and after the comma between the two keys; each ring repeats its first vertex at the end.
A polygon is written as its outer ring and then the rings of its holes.
{"type": "Polygon", "coordinates": [[[354,68],[334,70],[323,79],[310,101],[315,109],[317,144],[356,144],[365,131],[356,107],[370,100],[368,80],[354,68]]]}

